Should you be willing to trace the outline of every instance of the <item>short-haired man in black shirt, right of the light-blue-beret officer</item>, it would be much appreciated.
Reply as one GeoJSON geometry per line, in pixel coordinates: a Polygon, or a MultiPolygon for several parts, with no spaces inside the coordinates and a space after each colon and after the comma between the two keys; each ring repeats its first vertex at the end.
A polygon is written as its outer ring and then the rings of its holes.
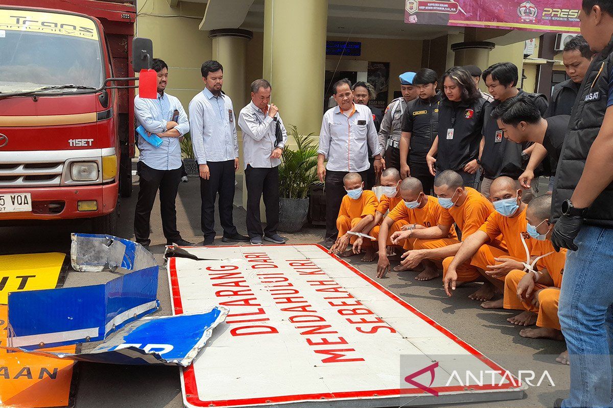
{"type": "Polygon", "coordinates": [[[434,176],[430,174],[425,157],[438,133],[438,107],[441,95],[436,92],[436,72],[424,68],[417,72],[413,86],[417,99],[411,101],[402,116],[402,138],[400,139],[400,174],[416,177],[430,194],[434,187],[434,176]]]}

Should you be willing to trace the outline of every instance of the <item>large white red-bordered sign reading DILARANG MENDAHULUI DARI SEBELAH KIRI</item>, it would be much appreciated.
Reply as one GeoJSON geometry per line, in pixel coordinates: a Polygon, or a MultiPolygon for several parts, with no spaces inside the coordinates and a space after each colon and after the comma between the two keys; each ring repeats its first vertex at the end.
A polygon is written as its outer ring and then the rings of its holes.
{"type": "Polygon", "coordinates": [[[181,373],[188,407],[421,406],[524,394],[503,368],[318,245],[184,249],[204,259],[169,260],[174,313],[230,310],[181,373]]]}

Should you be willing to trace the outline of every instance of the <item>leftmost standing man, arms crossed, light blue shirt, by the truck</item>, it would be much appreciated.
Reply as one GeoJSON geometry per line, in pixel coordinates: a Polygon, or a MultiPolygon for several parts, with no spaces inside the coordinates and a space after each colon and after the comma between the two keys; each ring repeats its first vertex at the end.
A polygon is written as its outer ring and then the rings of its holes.
{"type": "Polygon", "coordinates": [[[181,102],[164,92],[168,82],[166,62],[154,58],[153,69],[158,73],[158,97],[135,97],[134,114],[136,125],[142,125],[148,133],[158,135],[162,144],[154,147],[145,139],[139,138],[139,200],[134,213],[134,237],[143,247],[149,247],[151,209],[159,190],[162,231],[166,237],[166,245],[176,243],[188,247],[194,244],[182,239],[177,231],[175,208],[181,180],[180,139],[189,132],[188,116],[181,102]]]}

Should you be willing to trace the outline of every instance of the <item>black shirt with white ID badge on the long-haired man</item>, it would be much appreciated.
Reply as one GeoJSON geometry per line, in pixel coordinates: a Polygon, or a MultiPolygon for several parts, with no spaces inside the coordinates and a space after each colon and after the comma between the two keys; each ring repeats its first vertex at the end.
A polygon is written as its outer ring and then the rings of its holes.
{"type": "Polygon", "coordinates": [[[479,156],[484,98],[476,102],[450,102],[446,97],[438,109],[438,155],[436,171],[463,171],[469,161],[479,156]],[[453,132],[451,132],[451,129],[453,132]]]}

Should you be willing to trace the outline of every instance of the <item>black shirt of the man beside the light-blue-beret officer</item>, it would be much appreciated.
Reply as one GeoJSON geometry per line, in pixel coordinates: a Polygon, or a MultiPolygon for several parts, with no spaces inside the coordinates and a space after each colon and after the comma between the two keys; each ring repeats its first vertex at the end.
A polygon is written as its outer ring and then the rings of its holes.
{"type": "Polygon", "coordinates": [[[409,162],[425,163],[425,156],[438,133],[438,108],[441,95],[409,102],[402,115],[402,132],[411,132],[409,162]]]}

